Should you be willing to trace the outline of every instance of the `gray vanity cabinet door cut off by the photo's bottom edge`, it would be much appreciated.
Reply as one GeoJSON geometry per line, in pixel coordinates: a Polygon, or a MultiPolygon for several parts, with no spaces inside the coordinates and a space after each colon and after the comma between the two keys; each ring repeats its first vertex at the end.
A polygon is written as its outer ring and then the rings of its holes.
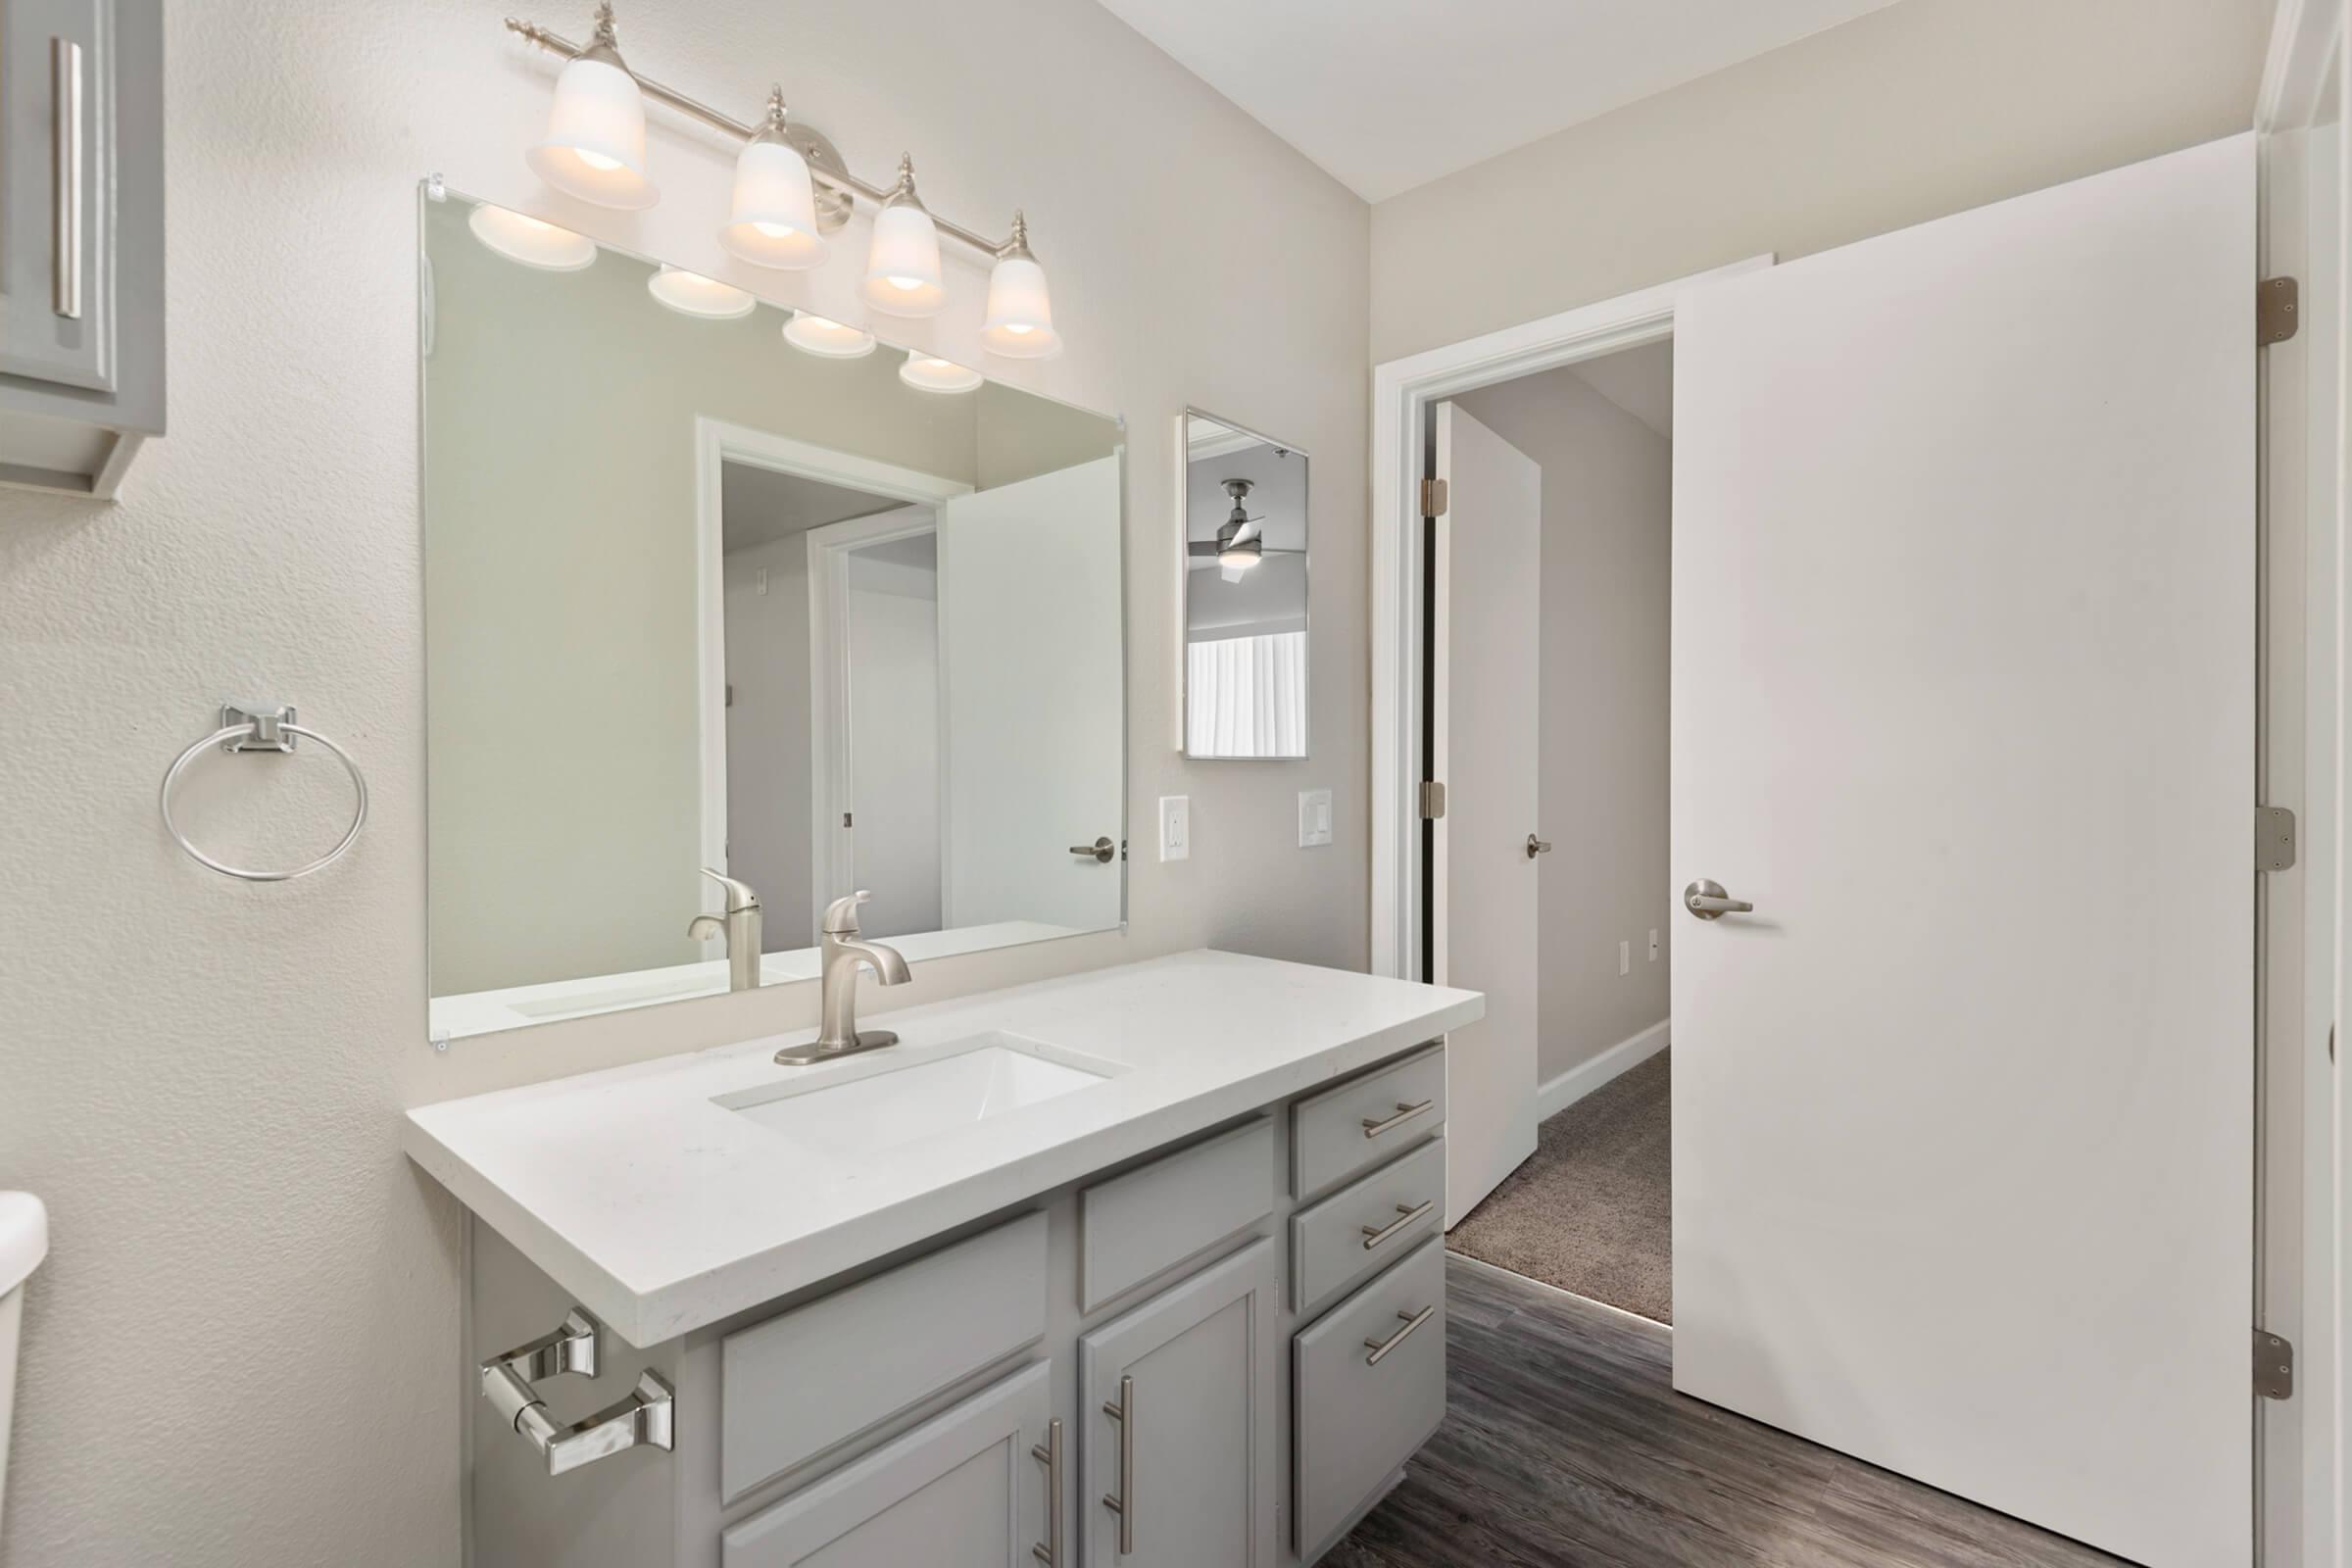
{"type": "Polygon", "coordinates": [[[981,1389],[724,1530],[724,1568],[1037,1568],[1054,1368],[981,1389]]]}

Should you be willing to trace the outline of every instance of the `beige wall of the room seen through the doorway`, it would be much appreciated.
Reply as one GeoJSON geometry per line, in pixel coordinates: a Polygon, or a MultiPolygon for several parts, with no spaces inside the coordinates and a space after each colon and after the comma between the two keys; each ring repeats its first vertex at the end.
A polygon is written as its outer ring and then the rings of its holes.
{"type": "Polygon", "coordinates": [[[1675,449],[1573,369],[1463,409],[1543,468],[1536,1079],[1668,1013],[1668,602],[1675,449]],[[1658,931],[1658,961],[1649,933],[1658,931]],[[1632,973],[1618,976],[1618,943],[1632,973]]]}

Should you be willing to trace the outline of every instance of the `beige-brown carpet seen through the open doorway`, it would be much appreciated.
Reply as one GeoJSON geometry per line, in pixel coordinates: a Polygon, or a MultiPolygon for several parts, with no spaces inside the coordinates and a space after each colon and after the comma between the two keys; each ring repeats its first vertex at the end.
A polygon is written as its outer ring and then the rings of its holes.
{"type": "Polygon", "coordinates": [[[1446,1246],[1672,1324],[1670,1056],[1661,1051],[1536,1128],[1536,1154],[1446,1246]]]}

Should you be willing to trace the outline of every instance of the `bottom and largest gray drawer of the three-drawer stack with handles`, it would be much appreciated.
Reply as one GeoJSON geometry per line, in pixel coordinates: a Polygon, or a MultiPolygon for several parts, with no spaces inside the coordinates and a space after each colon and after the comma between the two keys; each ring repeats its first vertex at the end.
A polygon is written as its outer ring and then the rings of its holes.
{"type": "Polygon", "coordinates": [[[1444,1241],[1416,1246],[1296,1335],[1291,1352],[1296,1544],[1315,1561],[1444,1420],[1444,1241]]]}

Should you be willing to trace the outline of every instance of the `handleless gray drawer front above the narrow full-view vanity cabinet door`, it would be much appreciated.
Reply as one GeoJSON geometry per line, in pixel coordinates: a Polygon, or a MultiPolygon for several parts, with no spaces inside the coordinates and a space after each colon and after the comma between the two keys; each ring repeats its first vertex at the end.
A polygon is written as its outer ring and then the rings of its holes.
{"type": "Polygon", "coordinates": [[[1261,1117],[1080,1194],[1077,1305],[1094,1312],[1275,1211],[1275,1124],[1261,1117]]]}

